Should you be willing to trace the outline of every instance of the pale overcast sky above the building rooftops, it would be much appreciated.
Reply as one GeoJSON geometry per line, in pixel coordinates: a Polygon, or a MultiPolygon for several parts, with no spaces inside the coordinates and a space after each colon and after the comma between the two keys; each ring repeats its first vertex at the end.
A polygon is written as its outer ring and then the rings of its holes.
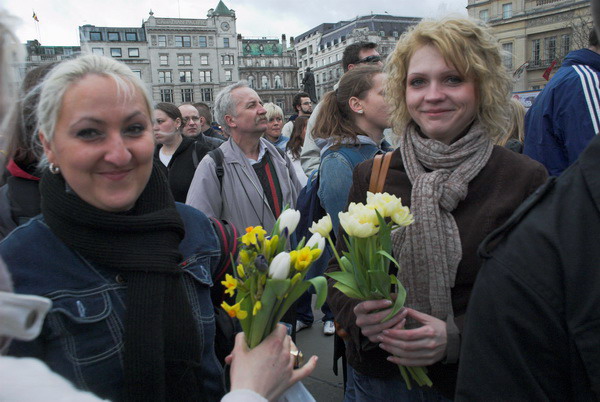
{"type": "MultiPolygon", "coordinates": [[[[384,14],[405,17],[466,15],[467,0],[224,0],[235,10],[237,32],[245,37],[297,36],[323,22],[384,14]],[[367,4],[368,3],[368,4],[367,4]]],[[[84,24],[140,27],[150,9],[155,17],[206,18],[218,0],[0,0],[20,22],[16,32],[24,43],[79,45],[78,27],[84,24]],[[39,19],[39,34],[32,15],[39,19]]]]}

